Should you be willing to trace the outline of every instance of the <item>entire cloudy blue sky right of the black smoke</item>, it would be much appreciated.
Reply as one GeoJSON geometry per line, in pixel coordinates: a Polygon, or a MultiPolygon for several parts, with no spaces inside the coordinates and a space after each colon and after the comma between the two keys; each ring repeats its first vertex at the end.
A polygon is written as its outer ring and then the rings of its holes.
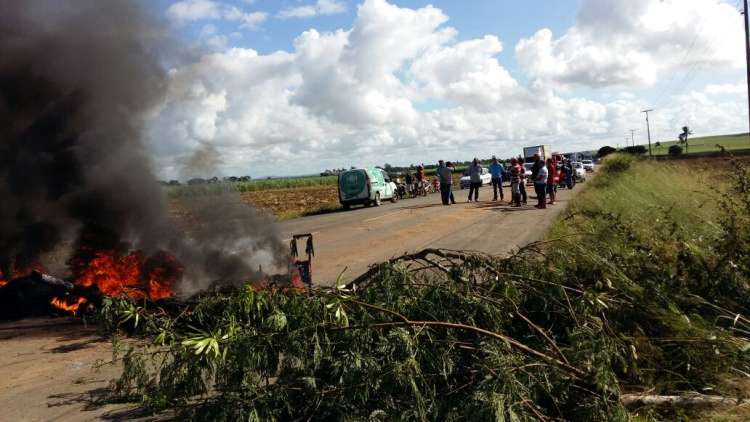
{"type": "Polygon", "coordinates": [[[163,178],[747,132],[738,0],[157,0],[163,178]]]}

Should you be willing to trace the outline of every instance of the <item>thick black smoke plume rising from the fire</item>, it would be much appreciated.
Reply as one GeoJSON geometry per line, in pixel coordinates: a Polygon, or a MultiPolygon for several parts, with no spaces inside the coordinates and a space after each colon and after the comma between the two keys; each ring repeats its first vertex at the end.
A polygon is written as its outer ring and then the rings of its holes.
{"type": "MultiPolygon", "coordinates": [[[[61,242],[167,251],[191,287],[284,265],[273,223],[201,201],[195,230],[170,220],[141,136],[168,83],[158,25],[135,0],[0,3],[0,271],[61,242]]],[[[231,201],[230,201],[231,202],[231,201]]]]}

